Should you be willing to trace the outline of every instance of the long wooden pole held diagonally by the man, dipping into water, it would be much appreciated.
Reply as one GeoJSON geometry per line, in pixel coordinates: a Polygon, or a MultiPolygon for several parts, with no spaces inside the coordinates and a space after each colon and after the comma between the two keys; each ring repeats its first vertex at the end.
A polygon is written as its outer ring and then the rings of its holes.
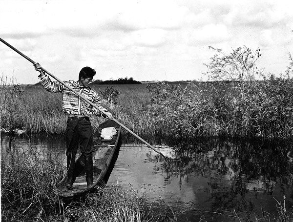
{"type": "MultiPolygon", "coordinates": [[[[8,42],[2,40],[0,38],[0,41],[3,42],[5,45],[7,45],[9,48],[11,48],[12,50],[16,51],[18,54],[20,54],[22,57],[24,57],[25,59],[27,59],[28,61],[30,61],[33,64],[36,64],[35,61],[33,61],[32,59],[30,59],[29,57],[27,57],[26,55],[24,55],[21,51],[19,51],[18,49],[16,49],[15,47],[13,47],[12,45],[10,45],[8,42]]],[[[50,73],[48,70],[46,70],[45,68],[42,67],[42,70],[47,73],[49,76],[51,76],[52,78],[54,78],[55,80],[59,81],[61,84],[63,84],[66,88],[68,88],[69,90],[71,90],[75,95],[79,96],[80,98],[82,98],[84,101],[88,102],[89,104],[91,104],[92,106],[94,106],[96,109],[98,109],[101,113],[103,113],[105,116],[107,116],[107,114],[104,112],[104,110],[100,109],[97,105],[95,105],[94,103],[92,103],[91,101],[89,101],[88,99],[86,99],[83,95],[79,94],[78,92],[74,91],[73,88],[71,88],[69,85],[65,84],[65,82],[63,82],[62,80],[60,80],[59,78],[57,78],[56,76],[54,76],[52,73],[50,73]]],[[[160,151],[158,151],[155,147],[153,147],[151,144],[149,144],[147,141],[145,141],[144,139],[142,139],[140,136],[136,135],[134,132],[132,132],[130,129],[128,129],[125,125],[123,125],[121,122],[115,120],[114,118],[112,119],[112,121],[116,122],[117,124],[121,125],[124,129],[126,129],[130,134],[132,134],[134,137],[136,137],[137,139],[139,139],[140,141],[144,142],[149,148],[151,148],[152,150],[154,150],[155,152],[157,152],[158,154],[162,155],[166,161],[169,161],[167,159],[167,157],[165,157],[160,151]]]]}

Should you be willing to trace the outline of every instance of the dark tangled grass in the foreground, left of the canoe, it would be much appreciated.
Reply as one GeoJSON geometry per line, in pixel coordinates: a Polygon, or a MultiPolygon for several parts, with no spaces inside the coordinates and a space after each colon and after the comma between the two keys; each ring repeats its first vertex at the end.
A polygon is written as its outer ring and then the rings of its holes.
{"type": "Polygon", "coordinates": [[[57,213],[56,185],[64,175],[58,155],[39,153],[34,147],[20,152],[12,142],[1,159],[2,221],[34,221],[57,213]]]}

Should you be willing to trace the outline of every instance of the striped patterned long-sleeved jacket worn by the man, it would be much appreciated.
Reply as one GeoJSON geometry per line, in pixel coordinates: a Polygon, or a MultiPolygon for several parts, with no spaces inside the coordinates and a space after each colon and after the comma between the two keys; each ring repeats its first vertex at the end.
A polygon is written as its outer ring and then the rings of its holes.
{"type": "MultiPolygon", "coordinates": [[[[101,97],[91,87],[81,86],[78,81],[73,80],[64,81],[64,83],[106,112],[106,109],[101,106],[101,97]]],[[[65,114],[84,115],[87,117],[92,114],[103,116],[98,109],[75,95],[60,82],[51,81],[47,75],[41,78],[41,84],[48,92],[61,92],[63,94],[62,109],[65,114]]]]}

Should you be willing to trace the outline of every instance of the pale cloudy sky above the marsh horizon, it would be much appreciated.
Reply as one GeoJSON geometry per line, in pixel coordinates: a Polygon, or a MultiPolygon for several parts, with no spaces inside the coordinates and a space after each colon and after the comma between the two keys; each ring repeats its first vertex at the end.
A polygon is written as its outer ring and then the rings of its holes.
{"type": "MultiPolygon", "coordinates": [[[[94,79],[205,80],[204,63],[239,46],[279,75],[293,54],[292,0],[0,0],[0,38],[61,80],[90,66],[94,79]]],[[[39,81],[32,63],[0,42],[0,76],[39,81]]]]}

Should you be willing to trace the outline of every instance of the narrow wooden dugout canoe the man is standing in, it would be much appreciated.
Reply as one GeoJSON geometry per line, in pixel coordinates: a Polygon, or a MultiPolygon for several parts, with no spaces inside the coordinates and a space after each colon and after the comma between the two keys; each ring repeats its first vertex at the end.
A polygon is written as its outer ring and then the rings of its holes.
{"type": "Polygon", "coordinates": [[[73,189],[67,189],[65,182],[67,176],[63,178],[60,184],[57,186],[57,193],[62,198],[73,198],[84,195],[85,193],[93,190],[97,185],[105,184],[109,171],[112,170],[113,158],[115,151],[117,151],[120,145],[121,126],[116,122],[107,120],[103,122],[93,135],[94,139],[94,153],[93,153],[93,166],[94,166],[94,185],[87,188],[85,181],[84,171],[84,156],[81,155],[75,162],[75,171],[78,174],[75,182],[73,183],[73,189]],[[116,135],[111,140],[105,140],[101,137],[101,132],[104,128],[114,127],[116,129],[116,135]]]}

